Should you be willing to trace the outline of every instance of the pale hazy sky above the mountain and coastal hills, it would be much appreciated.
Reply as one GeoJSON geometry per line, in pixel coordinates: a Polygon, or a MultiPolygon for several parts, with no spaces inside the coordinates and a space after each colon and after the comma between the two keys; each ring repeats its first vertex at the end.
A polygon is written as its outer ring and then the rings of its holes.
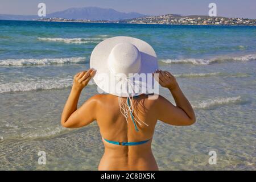
{"type": "Polygon", "coordinates": [[[0,14],[36,15],[40,2],[46,3],[47,13],[96,6],[146,15],[208,15],[208,5],[214,2],[217,16],[256,19],[256,0],[0,0],[0,14]]]}

